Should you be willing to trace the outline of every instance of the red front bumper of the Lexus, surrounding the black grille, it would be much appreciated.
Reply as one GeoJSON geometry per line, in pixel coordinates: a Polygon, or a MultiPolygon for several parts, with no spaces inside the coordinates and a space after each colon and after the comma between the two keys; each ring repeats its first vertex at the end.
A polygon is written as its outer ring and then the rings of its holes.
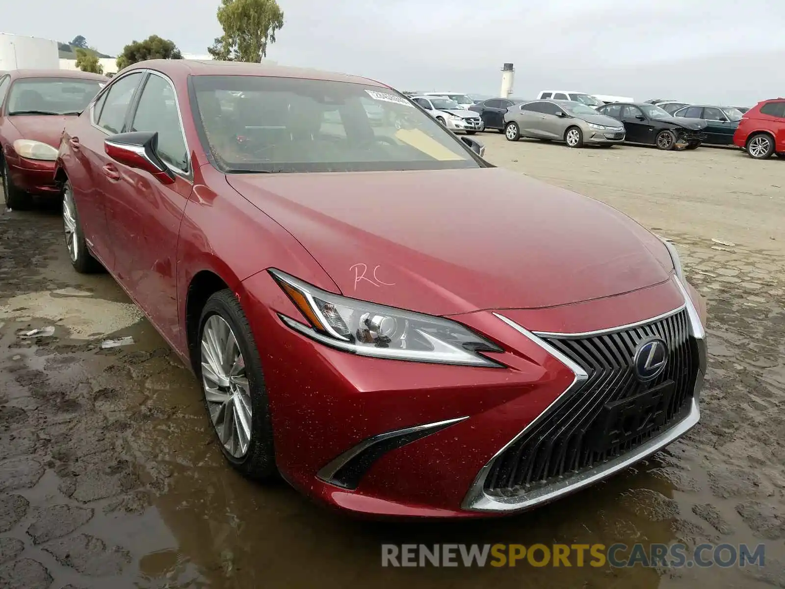
{"type": "MultiPolygon", "coordinates": [[[[277,313],[301,317],[268,273],[243,285],[241,302],[265,367],[279,470],[306,495],[356,514],[467,518],[525,510],[656,452],[699,416],[702,379],[696,378],[688,415],[634,452],[564,477],[544,491],[500,498],[485,485],[495,460],[575,390],[575,371],[542,345],[542,337],[478,311],[455,318],[494,338],[506,351],[493,356],[509,368],[357,357],[283,324],[277,313]]],[[[669,281],[568,307],[498,315],[537,331],[565,324],[594,331],[683,309],[685,295],[669,281]],[[644,316],[641,309],[647,309],[644,316]]]]}

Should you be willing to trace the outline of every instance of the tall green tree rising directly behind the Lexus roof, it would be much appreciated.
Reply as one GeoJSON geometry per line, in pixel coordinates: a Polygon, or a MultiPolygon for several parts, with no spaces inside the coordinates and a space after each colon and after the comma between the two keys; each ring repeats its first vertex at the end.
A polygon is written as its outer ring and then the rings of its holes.
{"type": "Polygon", "coordinates": [[[283,11],[276,0],[221,0],[217,16],[224,35],[207,49],[217,60],[259,63],[283,27],[283,11]]]}

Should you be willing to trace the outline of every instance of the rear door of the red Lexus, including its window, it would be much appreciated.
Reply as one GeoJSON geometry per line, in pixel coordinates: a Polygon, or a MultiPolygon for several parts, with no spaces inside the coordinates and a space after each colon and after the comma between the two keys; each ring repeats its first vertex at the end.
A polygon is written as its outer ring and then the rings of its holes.
{"type": "Polygon", "coordinates": [[[141,71],[132,71],[113,80],[98,94],[88,112],[68,123],[61,146],[85,239],[109,270],[114,270],[115,251],[106,218],[110,188],[106,174],[111,160],[104,151],[104,139],[122,132],[143,77],[141,71]]]}

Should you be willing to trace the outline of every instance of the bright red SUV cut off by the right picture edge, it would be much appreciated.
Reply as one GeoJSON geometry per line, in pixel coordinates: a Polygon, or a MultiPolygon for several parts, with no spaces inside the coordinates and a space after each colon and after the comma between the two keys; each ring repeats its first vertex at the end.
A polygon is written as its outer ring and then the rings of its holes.
{"type": "Polygon", "coordinates": [[[785,157],[785,98],[758,102],[744,113],[733,143],[754,159],[785,157]]]}

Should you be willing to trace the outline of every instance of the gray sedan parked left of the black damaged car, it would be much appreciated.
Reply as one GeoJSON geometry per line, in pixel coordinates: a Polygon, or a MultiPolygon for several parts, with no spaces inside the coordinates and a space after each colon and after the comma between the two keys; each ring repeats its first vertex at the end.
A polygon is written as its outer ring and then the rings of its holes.
{"type": "Polygon", "coordinates": [[[624,141],[624,127],[616,119],[598,114],[576,101],[532,101],[510,107],[504,115],[507,141],[533,137],[582,145],[615,145],[624,141]]]}

